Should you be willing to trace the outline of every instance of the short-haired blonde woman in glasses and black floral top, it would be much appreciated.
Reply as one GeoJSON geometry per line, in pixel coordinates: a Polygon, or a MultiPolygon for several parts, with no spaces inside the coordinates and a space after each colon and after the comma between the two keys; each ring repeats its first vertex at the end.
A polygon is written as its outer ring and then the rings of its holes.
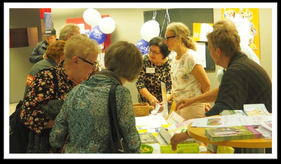
{"type": "Polygon", "coordinates": [[[98,43],[88,36],[72,36],[65,42],[64,60],[52,71],[41,70],[34,76],[20,115],[31,130],[27,153],[49,153],[51,129],[67,93],[88,79],[100,52],[98,43]]]}

